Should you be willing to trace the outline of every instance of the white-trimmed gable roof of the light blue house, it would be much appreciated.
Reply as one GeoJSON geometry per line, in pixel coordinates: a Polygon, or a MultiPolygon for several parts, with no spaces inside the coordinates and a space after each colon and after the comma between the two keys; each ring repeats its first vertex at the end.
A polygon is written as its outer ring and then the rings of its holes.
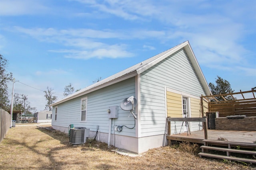
{"type": "Polygon", "coordinates": [[[202,86],[204,88],[204,91],[206,92],[206,94],[211,94],[210,88],[206,82],[206,79],[205,79],[204,74],[198,64],[198,61],[196,60],[194,52],[192,51],[192,48],[191,48],[189,42],[185,41],[184,43],[181,43],[175,47],[172,47],[171,49],[168,49],[167,51],[164,51],[164,52],[162,52],[158,55],[155,55],[145,61],[142,61],[141,63],[135,64],[134,66],[131,66],[125,70],[122,70],[121,72],[118,72],[112,76],[109,76],[108,78],[100,80],[99,82],[96,82],[86,88],[83,88],[83,89],[79,90],[78,92],[70,94],[69,96],[66,96],[65,98],[63,98],[61,100],[58,100],[57,102],[55,102],[54,104],[51,104],[50,106],[55,106],[62,102],[66,102],[70,99],[74,99],[76,97],[82,96],[84,94],[88,94],[88,93],[98,90],[100,88],[104,88],[111,84],[115,84],[122,80],[126,80],[128,78],[134,77],[134,76],[144,72],[148,68],[154,66],[158,62],[162,61],[166,57],[172,55],[173,53],[175,53],[176,51],[178,51],[182,48],[184,48],[186,54],[188,55],[188,58],[190,59],[190,62],[192,63],[192,66],[199,78],[200,83],[202,84],[202,86]]]}

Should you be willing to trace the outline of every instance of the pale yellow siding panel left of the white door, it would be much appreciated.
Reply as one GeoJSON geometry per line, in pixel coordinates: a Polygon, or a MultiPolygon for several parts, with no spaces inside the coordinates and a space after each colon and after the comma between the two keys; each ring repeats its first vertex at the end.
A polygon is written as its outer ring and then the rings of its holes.
{"type": "Polygon", "coordinates": [[[181,95],[173,92],[166,92],[167,99],[167,116],[182,117],[182,100],[181,95]]]}

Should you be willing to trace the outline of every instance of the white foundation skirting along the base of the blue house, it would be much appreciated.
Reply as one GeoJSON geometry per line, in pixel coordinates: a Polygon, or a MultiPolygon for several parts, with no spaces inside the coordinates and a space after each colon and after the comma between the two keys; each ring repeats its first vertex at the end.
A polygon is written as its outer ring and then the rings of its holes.
{"type": "MultiPolygon", "coordinates": [[[[52,125],[52,128],[64,133],[68,133],[68,127],[52,125]]],[[[89,138],[94,137],[95,131],[90,131],[89,138]]],[[[96,140],[108,143],[108,133],[99,132],[96,140]]],[[[154,135],[149,137],[129,137],[117,134],[111,134],[110,145],[119,149],[127,150],[136,154],[141,154],[149,149],[158,148],[167,145],[165,135],[154,135]]]]}

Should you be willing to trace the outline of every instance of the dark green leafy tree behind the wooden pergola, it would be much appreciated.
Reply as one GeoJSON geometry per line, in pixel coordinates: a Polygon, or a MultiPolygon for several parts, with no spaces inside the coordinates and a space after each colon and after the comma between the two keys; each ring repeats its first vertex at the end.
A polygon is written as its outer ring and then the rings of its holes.
{"type": "MultiPolygon", "coordinates": [[[[232,90],[230,83],[227,80],[223,80],[220,76],[217,76],[218,79],[216,79],[216,85],[213,83],[209,83],[209,87],[212,91],[213,95],[217,94],[227,94],[227,93],[233,93],[235,90],[232,90]]],[[[232,96],[224,96],[226,100],[233,100],[232,96]]],[[[223,101],[223,98],[216,97],[217,100],[223,101]]]]}

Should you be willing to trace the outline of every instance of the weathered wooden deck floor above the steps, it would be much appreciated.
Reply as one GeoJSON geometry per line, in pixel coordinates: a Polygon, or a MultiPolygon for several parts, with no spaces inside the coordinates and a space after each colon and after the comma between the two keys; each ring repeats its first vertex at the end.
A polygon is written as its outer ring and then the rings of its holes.
{"type": "MultiPolygon", "coordinates": [[[[181,133],[167,136],[171,141],[186,141],[192,143],[204,143],[204,131],[193,131],[188,133],[181,133]]],[[[208,139],[218,140],[218,138],[226,138],[232,142],[254,143],[256,141],[256,131],[221,131],[208,129],[208,139]]],[[[256,144],[255,144],[256,147],[256,144]]]]}

